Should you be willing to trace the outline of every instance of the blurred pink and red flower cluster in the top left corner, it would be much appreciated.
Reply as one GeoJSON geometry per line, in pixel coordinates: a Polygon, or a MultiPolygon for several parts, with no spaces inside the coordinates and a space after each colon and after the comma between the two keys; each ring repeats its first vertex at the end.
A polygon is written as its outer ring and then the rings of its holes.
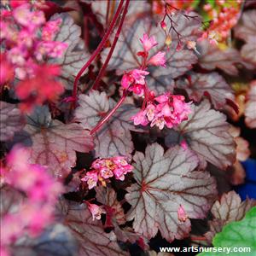
{"type": "MultiPolygon", "coordinates": [[[[37,9],[37,5],[26,1],[20,3],[22,4],[12,4],[13,9],[1,9],[0,42],[4,49],[1,59],[4,61],[1,63],[0,85],[12,82],[15,78],[34,79],[38,76],[38,68],[42,64],[51,58],[61,57],[67,49],[67,44],[54,40],[61,19],[46,21],[44,12],[37,9]],[[5,70],[11,72],[5,73],[5,70]]],[[[44,64],[44,67],[43,73],[47,74],[51,65],[47,68],[44,64]]],[[[32,85],[29,90],[30,96],[38,94],[39,104],[44,102],[40,95],[44,95],[44,90],[48,90],[52,85],[44,82],[40,81],[38,84],[43,91],[39,92],[37,88],[32,88],[32,85]]],[[[55,92],[51,92],[50,98],[46,97],[49,100],[63,92],[62,84],[55,83],[55,92]]],[[[26,89],[21,91],[21,97],[18,95],[20,98],[25,98],[26,89]]]]}

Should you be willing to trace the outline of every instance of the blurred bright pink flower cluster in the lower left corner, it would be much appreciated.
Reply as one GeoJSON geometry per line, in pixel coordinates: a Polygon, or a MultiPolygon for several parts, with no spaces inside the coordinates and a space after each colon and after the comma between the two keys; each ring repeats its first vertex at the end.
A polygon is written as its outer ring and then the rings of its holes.
{"type": "MultiPolygon", "coordinates": [[[[25,148],[15,146],[1,168],[4,183],[25,193],[15,211],[7,212],[1,219],[1,250],[9,255],[8,247],[20,236],[38,236],[53,221],[55,202],[63,191],[61,183],[49,176],[44,166],[28,163],[25,148]]],[[[2,255],[2,254],[1,254],[2,255]]]]}

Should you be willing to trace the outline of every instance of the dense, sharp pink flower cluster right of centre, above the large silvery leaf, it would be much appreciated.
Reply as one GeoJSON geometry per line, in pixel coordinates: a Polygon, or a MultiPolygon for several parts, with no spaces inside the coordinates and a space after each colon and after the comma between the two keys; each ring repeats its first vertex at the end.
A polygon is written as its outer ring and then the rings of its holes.
{"type": "Polygon", "coordinates": [[[163,95],[154,97],[154,100],[147,102],[147,107],[131,117],[134,125],[157,126],[162,130],[165,125],[168,128],[179,125],[183,120],[188,119],[191,112],[190,103],[184,102],[184,96],[172,95],[166,92],[163,95]]]}

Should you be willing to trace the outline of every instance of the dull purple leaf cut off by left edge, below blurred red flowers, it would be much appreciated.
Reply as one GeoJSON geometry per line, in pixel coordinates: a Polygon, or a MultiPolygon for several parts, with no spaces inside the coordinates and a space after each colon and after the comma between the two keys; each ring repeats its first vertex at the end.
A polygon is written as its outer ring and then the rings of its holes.
{"type": "Polygon", "coordinates": [[[0,102],[0,120],[1,142],[12,139],[25,125],[20,109],[7,102],[0,102]]]}

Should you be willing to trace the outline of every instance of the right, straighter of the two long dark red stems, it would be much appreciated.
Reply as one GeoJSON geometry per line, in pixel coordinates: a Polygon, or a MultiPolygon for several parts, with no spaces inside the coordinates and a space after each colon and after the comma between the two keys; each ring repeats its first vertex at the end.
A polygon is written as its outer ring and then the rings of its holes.
{"type": "Polygon", "coordinates": [[[100,70],[100,73],[97,75],[97,78],[96,78],[96,81],[95,83],[92,85],[92,90],[96,90],[100,80],[102,79],[102,76],[104,75],[105,71],[106,71],[106,68],[108,66],[108,62],[110,61],[110,58],[111,56],[113,55],[113,50],[115,48],[115,45],[117,44],[118,42],[118,39],[119,39],[119,34],[121,32],[121,29],[122,29],[122,26],[123,26],[123,23],[124,23],[124,20],[125,20],[125,15],[127,14],[127,10],[128,10],[128,6],[129,6],[129,3],[130,3],[130,0],[127,0],[125,2],[125,9],[124,9],[124,12],[123,12],[123,15],[122,15],[122,18],[120,20],[120,23],[119,23],[119,27],[118,27],[118,30],[117,32],[115,33],[115,36],[114,36],[114,39],[113,39],[113,44],[111,46],[111,49],[109,50],[108,52],[108,56],[107,56],[107,59],[106,61],[104,62],[101,70],[100,70]]]}

